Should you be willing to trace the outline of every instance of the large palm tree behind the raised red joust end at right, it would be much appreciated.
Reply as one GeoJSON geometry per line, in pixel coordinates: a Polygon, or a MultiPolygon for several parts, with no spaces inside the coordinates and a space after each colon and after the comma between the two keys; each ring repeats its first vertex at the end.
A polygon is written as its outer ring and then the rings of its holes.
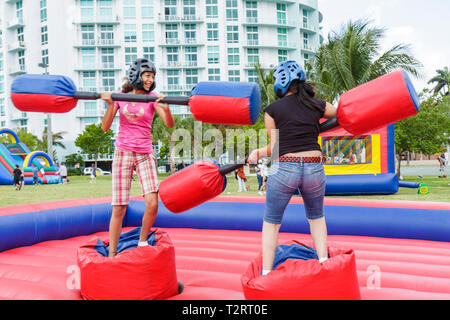
{"type": "Polygon", "coordinates": [[[318,95],[335,102],[342,93],[397,69],[419,77],[421,64],[409,53],[409,45],[398,44],[380,53],[384,35],[385,29],[364,20],[349,21],[331,32],[306,66],[318,95]]]}

